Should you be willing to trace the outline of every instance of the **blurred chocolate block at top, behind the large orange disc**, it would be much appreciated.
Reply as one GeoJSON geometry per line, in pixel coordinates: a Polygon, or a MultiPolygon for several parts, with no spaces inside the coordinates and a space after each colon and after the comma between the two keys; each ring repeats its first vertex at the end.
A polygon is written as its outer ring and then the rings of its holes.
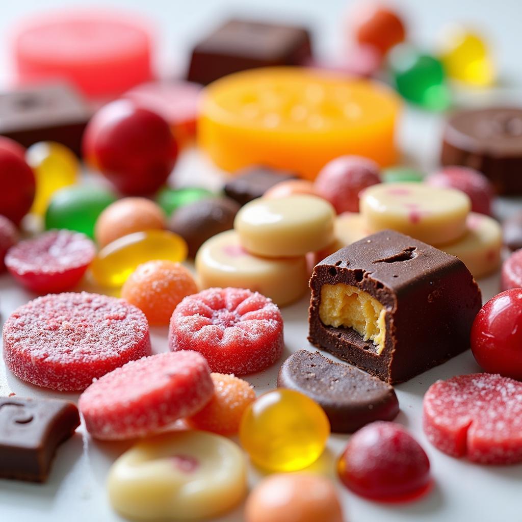
{"type": "Polygon", "coordinates": [[[310,34],[302,27],[229,20],[195,46],[187,79],[206,85],[240,70],[302,65],[310,58],[310,34]]]}

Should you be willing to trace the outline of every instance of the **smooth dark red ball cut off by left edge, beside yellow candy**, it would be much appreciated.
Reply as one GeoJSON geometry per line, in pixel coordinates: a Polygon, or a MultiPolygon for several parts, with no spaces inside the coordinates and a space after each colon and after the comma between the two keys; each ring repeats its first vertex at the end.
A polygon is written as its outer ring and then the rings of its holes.
{"type": "Polygon", "coordinates": [[[34,174],[16,149],[0,147],[0,214],[20,223],[31,208],[36,183],[34,174]]]}

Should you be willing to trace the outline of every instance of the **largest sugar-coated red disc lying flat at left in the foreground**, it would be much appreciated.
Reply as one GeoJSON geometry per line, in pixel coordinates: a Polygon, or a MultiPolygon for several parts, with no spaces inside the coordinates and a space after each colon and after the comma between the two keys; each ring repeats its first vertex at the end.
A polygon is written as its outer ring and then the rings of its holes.
{"type": "Polygon", "coordinates": [[[150,355],[149,325],[123,299],[49,294],[20,306],[4,325],[4,360],[31,384],[77,392],[128,361],[150,355]]]}

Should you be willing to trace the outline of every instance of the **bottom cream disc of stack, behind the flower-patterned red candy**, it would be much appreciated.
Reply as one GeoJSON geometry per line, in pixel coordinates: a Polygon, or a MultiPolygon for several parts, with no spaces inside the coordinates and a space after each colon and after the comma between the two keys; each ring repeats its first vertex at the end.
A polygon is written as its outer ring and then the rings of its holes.
{"type": "Polygon", "coordinates": [[[267,258],[249,254],[234,230],[207,240],[196,255],[201,288],[248,288],[262,293],[278,306],[299,299],[308,289],[306,258],[267,258]]]}

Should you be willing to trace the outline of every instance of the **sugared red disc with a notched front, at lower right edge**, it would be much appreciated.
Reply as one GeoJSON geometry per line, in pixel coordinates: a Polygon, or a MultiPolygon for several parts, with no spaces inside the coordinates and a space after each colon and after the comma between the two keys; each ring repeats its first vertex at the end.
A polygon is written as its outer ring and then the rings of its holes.
{"type": "Polygon", "coordinates": [[[424,433],[441,452],[481,464],[522,461],[522,383],[459,375],[430,386],[423,409],[424,433]]]}

